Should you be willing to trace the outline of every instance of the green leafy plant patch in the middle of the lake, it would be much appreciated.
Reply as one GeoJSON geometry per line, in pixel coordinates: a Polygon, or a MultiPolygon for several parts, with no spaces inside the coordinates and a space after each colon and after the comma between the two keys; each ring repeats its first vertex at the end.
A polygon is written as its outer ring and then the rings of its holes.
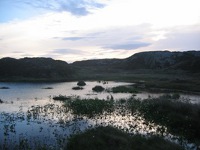
{"type": "Polygon", "coordinates": [[[98,114],[103,114],[103,112],[112,112],[114,101],[99,99],[71,99],[65,103],[65,106],[72,109],[74,114],[93,117],[98,114]]]}

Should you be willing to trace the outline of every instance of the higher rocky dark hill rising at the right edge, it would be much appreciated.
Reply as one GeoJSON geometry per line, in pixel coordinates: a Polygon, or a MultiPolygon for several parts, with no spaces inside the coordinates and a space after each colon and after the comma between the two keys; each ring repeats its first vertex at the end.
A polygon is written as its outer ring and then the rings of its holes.
{"type": "Polygon", "coordinates": [[[124,61],[128,69],[164,69],[200,72],[200,52],[154,51],[137,53],[124,61]]]}

